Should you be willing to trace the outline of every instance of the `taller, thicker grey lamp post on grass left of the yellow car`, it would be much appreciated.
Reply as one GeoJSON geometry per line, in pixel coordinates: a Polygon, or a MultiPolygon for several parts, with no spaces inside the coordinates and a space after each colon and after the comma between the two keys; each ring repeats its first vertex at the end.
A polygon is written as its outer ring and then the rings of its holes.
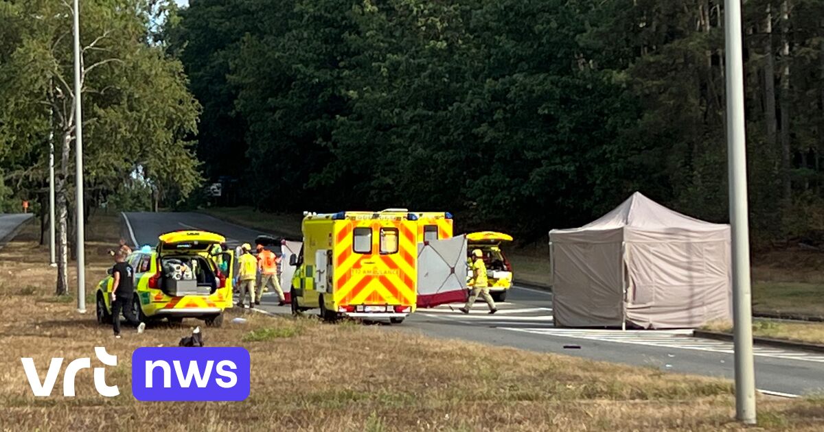
{"type": "Polygon", "coordinates": [[[77,219],[77,312],[86,313],[86,249],[84,247],[85,233],[83,232],[83,119],[81,109],[82,88],[80,82],[80,7],[74,0],[74,131],[75,131],[75,170],[77,176],[77,202],[75,216],[77,219]]]}

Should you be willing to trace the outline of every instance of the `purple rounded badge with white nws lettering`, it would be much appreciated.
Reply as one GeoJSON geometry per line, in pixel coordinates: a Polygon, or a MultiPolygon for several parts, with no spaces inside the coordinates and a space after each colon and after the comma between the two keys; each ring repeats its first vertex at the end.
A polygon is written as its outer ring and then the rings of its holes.
{"type": "Polygon", "coordinates": [[[249,351],[240,346],[138,348],[132,394],[138,401],[242,401],[250,369],[249,351]]]}

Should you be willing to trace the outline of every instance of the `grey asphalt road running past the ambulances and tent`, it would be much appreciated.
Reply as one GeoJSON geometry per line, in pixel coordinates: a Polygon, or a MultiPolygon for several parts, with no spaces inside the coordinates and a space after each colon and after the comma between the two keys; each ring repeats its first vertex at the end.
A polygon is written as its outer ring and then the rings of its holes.
{"type": "MultiPolygon", "coordinates": [[[[251,243],[261,234],[199,213],[127,213],[126,216],[133,241],[138,245],[156,244],[158,235],[171,230],[212,230],[226,236],[230,245],[251,243]]],[[[405,323],[386,325],[386,328],[733,379],[731,342],[690,337],[688,331],[555,328],[550,292],[515,286],[507,301],[499,304],[500,311],[495,315],[486,313],[482,301],[475,304],[469,315],[459,313],[457,307],[419,309],[405,323]]],[[[264,295],[261,309],[272,314],[289,314],[288,307],[277,306],[272,293],[264,295]]],[[[756,386],[761,390],[799,395],[824,389],[824,353],[758,346],[755,361],[756,386]]]]}

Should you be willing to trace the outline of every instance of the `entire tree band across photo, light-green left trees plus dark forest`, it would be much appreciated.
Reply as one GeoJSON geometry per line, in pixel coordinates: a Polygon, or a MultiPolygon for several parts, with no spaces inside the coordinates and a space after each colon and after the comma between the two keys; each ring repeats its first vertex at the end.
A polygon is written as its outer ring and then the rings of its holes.
{"type": "MultiPolygon", "coordinates": [[[[268,211],[446,210],[539,239],[640,190],[727,220],[719,0],[82,5],[90,205],[198,205],[222,181],[268,211]]],[[[818,235],[824,0],[744,9],[754,239],[818,235]]],[[[71,192],[68,12],[0,0],[2,207],[43,197],[50,134],[71,192]]]]}

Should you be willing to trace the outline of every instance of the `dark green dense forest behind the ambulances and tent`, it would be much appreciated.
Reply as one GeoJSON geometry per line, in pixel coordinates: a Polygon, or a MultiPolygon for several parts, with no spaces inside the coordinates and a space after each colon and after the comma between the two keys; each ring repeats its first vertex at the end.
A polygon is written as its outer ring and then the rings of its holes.
{"type": "MultiPolygon", "coordinates": [[[[822,227],[824,2],[745,2],[751,224],[822,227]]],[[[727,220],[723,2],[192,0],[166,26],[205,174],[274,211],[540,235],[640,190],[727,220]]]]}

